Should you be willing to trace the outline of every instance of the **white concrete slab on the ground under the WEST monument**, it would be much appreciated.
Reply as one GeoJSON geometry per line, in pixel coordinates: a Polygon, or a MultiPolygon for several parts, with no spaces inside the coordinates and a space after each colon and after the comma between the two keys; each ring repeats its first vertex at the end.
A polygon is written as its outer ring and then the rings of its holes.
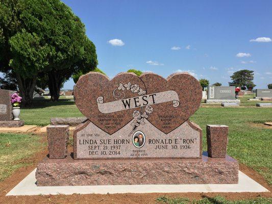
{"type": "Polygon", "coordinates": [[[269,192],[266,188],[239,171],[238,184],[181,184],[181,185],[105,185],[105,186],[37,186],[36,169],[15,186],[6,196],[71,195],[113,193],[187,193],[187,192],[269,192]]]}

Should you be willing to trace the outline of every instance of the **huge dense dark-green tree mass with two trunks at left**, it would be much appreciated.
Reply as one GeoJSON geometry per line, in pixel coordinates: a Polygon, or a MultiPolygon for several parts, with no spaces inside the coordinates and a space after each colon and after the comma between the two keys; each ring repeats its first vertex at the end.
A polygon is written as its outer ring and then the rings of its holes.
{"type": "Polygon", "coordinates": [[[39,75],[58,100],[73,73],[97,65],[84,24],[59,0],[2,0],[0,19],[0,71],[15,73],[22,105],[32,103],[39,75]]]}

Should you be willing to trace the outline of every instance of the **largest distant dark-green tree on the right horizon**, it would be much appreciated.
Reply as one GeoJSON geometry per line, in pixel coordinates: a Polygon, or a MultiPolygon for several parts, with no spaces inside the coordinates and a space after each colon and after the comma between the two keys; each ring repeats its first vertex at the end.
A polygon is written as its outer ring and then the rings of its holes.
{"type": "Polygon", "coordinates": [[[249,90],[252,90],[256,85],[253,83],[254,79],[254,71],[243,69],[234,72],[231,75],[232,82],[229,82],[230,86],[238,86],[241,87],[242,90],[245,90],[248,88],[249,90]]]}

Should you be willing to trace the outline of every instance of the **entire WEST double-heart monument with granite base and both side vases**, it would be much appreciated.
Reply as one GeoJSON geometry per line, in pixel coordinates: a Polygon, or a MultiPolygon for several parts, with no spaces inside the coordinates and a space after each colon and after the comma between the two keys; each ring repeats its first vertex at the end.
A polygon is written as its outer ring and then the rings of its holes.
{"type": "Polygon", "coordinates": [[[38,164],[38,186],[238,182],[238,163],[226,156],[227,126],[209,125],[209,153],[202,151],[202,129],[189,120],[202,88],[190,74],[119,73],[109,80],[90,72],[74,97],[87,120],[73,132],[70,155],[68,125],[47,128],[50,156],[38,164]]]}

